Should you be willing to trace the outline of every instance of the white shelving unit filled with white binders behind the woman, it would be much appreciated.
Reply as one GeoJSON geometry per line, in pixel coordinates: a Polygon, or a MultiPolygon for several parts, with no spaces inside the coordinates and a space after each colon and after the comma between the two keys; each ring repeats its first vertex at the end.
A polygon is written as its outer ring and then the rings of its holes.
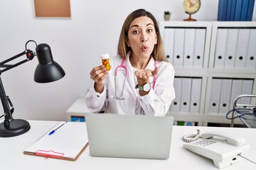
{"type": "MultiPolygon", "coordinates": [[[[175,70],[176,98],[168,114],[198,125],[230,124],[225,113],[232,109],[235,95],[256,93],[256,22],[161,21],[159,29],[165,53],[175,70]],[[191,114],[191,108],[183,105],[182,98],[192,98],[192,84],[187,80],[185,86],[177,83],[189,78],[201,79],[197,114],[191,114]]],[[[186,101],[191,106],[189,102],[186,101]]],[[[239,119],[235,123],[242,125],[239,119]]]]}

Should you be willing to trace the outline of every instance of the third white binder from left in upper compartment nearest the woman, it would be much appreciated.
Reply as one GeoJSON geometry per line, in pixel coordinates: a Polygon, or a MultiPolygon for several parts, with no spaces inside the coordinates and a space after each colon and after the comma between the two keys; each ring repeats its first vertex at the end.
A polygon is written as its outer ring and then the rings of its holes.
{"type": "Polygon", "coordinates": [[[194,28],[185,29],[183,67],[186,67],[186,68],[193,67],[195,35],[196,35],[196,29],[194,28]]]}

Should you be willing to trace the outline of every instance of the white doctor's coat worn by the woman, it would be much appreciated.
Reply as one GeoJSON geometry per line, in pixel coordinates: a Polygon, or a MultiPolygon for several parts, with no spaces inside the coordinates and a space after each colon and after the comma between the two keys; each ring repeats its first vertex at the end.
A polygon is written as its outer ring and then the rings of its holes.
{"type": "MultiPolygon", "coordinates": [[[[136,70],[132,67],[131,62],[129,62],[129,53],[124,62],[124,66],[128,69],[127,80],[125,79],[124,69],[119,68],[116,77],[117,88],[115,89],[114,72],[117,66],[122,62],[120,56],[110,57],[110,64],[112,69],[107,74],[105,89],[102,94],[95,91],[92,86],[85,96],[85,102],[87,108],[92,113],[99,113],[100,111],[105,111],[105,113],[117,113],[126,115],[166,115],[169,107],[171,106],[171,101],[175,98],[174,91],[174,67],[169,62],[157,62],[157,67],[159,67],[159,72],[156,75],[155,87],[152,89],[153,77],[149,78],[151,83],[151,90],[149,94],[145,96],[139,96],[139,89],[135,89],[137,84],[137,78],[134,75],[136,70]],[[124,84],[123,95],[121,96],[124,100],[116,99],[122,94],[124,84]]],[[[154,58],[146,66],[146,69],[155,69],[154,58]]]]}

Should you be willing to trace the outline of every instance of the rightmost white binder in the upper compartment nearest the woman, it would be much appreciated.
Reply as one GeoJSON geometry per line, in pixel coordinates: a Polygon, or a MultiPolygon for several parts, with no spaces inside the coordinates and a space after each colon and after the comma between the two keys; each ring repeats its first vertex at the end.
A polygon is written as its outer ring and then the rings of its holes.
{"type": "Polygon", "coordinates": [[[195,51],[194,51],[194,57],[193,57],[194,68],[203,68],[205,42],[206,42],[206,28],[197,28],[196,38],[195,38],[195,51]]]}

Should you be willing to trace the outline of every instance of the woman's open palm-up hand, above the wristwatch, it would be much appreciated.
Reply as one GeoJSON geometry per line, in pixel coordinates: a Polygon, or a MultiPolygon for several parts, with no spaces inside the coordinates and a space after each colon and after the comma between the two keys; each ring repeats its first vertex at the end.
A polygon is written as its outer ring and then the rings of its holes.
{"type": "Polygon", "coordinates": [[[149,77],[153,77],[158,73],[158,67],[154,70],[151,69],[137,69],[134,74],[137,77],[139,86],[144,86],[144,84],[149,83],[149,77]]]}

